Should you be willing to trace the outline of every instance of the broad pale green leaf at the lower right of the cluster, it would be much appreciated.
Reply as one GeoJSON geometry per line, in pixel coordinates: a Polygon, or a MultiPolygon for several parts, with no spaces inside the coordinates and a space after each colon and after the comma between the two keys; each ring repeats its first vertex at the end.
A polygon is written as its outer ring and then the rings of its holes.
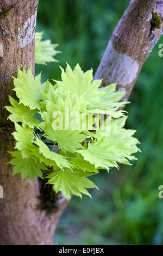
{"type": "Polygon", "coordinates": [[[82,154],[86,161],[95,164],[96,168],[118,167],[117,163],[130,164],[128,160],[134,160],[131,154],[140,151],[136,144],[139,143],[132,137],[134,130],[123,128],[126,118],[111,120],[111,132],[108,136],[102,136],[101,130],[97,132],[101,139],[89,143],[87,149],[76,150],[82,154]]]}

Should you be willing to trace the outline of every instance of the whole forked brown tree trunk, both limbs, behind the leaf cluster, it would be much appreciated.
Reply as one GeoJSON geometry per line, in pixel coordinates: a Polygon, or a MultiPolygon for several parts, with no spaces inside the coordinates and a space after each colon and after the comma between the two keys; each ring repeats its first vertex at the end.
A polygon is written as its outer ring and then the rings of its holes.
{"type": "MultiPolygon", "coordinates": [[[[67,205],[64,197],[58,200],[58,211],[48,215],[36,210],[40,194],[39,181],[34,184],[27,178],[23,182],[19,174],[12,176],[12,166],[7,151],[14,149],[10,136],[12,124],[7,121],[4,106],[12,95],[12,76],[17,67],[33,66],[34,34],[38,0],[0,0],[0,245],[49,245],[55,227],[67,205]]],[[[103,86],[117,82],[117,89],[126,90],[127,100],[143,63],[161,29],[151,29],[152,8],[163,13],[163,0],[132,0],[118,23],[95,78],[103,78],[103,86]]],[[[161,16],[162,19],[162,16],[161,16]]]]}

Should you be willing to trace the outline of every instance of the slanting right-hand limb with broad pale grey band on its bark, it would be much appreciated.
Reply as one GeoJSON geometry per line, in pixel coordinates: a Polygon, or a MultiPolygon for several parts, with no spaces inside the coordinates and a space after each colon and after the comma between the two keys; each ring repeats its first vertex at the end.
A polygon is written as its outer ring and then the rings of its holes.
{"type": "Polygon", "coordinates": [[[137,76],[163,32],[152,29],[152,8],[163,21],[163,1],[131,0],[118,22],[94,79],[103,79],[102,86],[117,83],[117,90],[126,91],[128,100],[137,76]]]}

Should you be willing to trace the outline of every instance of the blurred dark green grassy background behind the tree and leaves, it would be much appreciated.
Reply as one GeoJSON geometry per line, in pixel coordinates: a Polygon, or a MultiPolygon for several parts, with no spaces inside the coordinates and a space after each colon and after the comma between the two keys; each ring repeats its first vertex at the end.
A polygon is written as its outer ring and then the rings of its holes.
{"type": "MultiPolygon", "coordinates": [[[[94,74],[129,0],[39,0],[36,31],[59,44],[59,63],[36,65],[42,80],[60,80],[66,62],[94,74]]],[[[133,166],[102,171],[92,199],[73,196],[62,214],[54,245],[163,245],[163,58],[158,41],[130,96],[127,128],[137,130],[142,153],[133,166]]]]}

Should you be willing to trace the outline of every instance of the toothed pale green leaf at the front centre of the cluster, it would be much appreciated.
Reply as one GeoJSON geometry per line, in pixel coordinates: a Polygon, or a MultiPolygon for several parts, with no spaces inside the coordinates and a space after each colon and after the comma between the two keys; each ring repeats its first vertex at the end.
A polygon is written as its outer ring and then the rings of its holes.
{"type": "MultiPolygon", "coordinates": [[[[87,138],[86,135],[81,133],[82,126],[80,125],[80,122],[82,121],[82,114],[78,114],[80,120],[79,129],[76,129],[76,124],[74,124],[73,128],[76,130],[71,130],[72,121],[74,119],[71,118],[70,115],[73,111],[78,111],[79,108],[80,104],[74,103],[73,105],[70,96],[67,95],[65,100],[58,97],[56,104],[48,101],[46,105],[47,112],[40,112],[41,118],[44,121],[39,125],[39,127],[45,132],[45,137],[49,139],[49,141],[55,141],[58,143],[58,147],[64,152],[82,148],[81,144],[87,138]],[[68,107],[67,113],[65,112],[65,107],[68,107]],[[55,118],[53,118],[53,113],[57,113],[57,111],[60,112],[59,123],[58,121],[55,121],[55,118]],[[55,126],[54,121],[56,124],[55,126]]],[[[87,122],[87,119],[85,122],[87,122]]]]}

